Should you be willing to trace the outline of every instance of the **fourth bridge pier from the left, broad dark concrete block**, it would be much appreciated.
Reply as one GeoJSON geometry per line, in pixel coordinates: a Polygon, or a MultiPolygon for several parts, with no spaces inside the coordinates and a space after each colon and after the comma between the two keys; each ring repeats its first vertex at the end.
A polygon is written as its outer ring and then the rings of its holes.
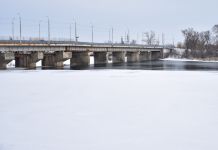
{"type": "Polygon", "coordinates": [[[70,59],[71,68],[84,68],[90,64],[89,52],[73,52],[70,59]]]}

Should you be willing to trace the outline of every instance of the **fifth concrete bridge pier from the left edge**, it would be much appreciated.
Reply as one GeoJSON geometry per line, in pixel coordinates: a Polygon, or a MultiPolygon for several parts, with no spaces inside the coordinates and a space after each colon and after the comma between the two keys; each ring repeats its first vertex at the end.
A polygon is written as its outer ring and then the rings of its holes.
{"type": "Polygon", "coordinates": [[[108,63],[107,52],[94,52],[94,64],[105,65],[108,63]]]}

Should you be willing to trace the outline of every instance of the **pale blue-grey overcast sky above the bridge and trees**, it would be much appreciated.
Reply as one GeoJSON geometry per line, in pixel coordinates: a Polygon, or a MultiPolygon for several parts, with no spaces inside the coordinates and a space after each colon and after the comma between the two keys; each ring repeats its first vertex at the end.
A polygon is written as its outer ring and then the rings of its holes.
{"type": "MultiPolygon", "coordinates": [[[[15,17],[15,34],[18,35],[18,13],[22,17],[23,36],[46,37],[46,16],[51,20],[51,36],[69,38],[69,24],[78,23],[81,41],[109,39],[114,28],[114,39],[130,32],[131,39],[141,39],[142,32],[154,30],[165,34],[166,42],[182,40],[181,30],[194,27],[211,29],[218,23],[218,0],[1,0],[0,36],[11,35],[11,22],[15,17]]],[[[74,26],[72,25],[72,28],[74,26]]],[[[74,34],[74,31],[72,31],[74,34]]]]}

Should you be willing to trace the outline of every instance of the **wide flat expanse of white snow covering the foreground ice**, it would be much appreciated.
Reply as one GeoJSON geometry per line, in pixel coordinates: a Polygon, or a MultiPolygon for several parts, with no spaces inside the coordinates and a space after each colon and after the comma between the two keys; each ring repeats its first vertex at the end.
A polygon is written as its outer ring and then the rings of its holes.
{"type": "Polygon", "coordinates": [[[0,150],[217,150],[218,72],[0,71],[0,150]]]}

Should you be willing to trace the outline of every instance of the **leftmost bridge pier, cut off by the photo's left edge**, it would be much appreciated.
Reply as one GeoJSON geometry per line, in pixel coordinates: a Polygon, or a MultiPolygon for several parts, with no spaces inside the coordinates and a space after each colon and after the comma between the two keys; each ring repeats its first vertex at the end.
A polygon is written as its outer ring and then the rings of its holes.
{"type": "Polygon", "coordinates": [[[0,69],[6,69],[7,64],[14,59],[14,53],[12,52],[0,53],[0,69]]]}

